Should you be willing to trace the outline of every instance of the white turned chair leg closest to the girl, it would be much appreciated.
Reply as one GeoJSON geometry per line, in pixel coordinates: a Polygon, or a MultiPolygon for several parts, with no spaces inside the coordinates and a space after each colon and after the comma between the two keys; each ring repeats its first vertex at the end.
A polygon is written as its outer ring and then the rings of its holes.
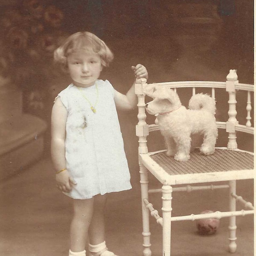
{"type": "Polygon", "coordinates": [[[148,170],[140,165],[140,186],[142,199],[142,223],[143,223],[143,256],[151,256],[150,249],[150,230],[149,230],[149,211],[145,206],[144,199],[148,200],[148,170]]]}

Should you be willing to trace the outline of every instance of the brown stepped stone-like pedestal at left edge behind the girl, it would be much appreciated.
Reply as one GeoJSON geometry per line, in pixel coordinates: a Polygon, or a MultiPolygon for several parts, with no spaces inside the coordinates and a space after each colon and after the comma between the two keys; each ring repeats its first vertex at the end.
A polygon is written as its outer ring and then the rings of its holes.
{"type": "Polygon", "coordinates": [[[22,111],[22,92],[0,78],[0,180],[42,157],[47,124],[22,111]]]}

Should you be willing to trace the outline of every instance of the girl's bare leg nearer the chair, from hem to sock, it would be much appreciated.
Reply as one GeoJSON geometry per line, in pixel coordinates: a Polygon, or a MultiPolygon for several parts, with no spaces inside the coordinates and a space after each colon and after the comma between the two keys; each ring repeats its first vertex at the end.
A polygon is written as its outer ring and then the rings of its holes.
{"type": "Polygon", "coordinates": [[[90,244],[96,245],[105,241],[105,205],[107,195],[95,195],[93,217],[89,227],[90,244]]]}

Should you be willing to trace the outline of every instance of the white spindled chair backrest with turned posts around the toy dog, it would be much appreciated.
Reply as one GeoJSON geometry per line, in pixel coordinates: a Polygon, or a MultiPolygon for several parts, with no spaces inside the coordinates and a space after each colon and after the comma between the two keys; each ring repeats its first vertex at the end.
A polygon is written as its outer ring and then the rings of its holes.
{"type": "MultiPolygon", "coordinates": [[[[147,85],[145,79],[137,79],[135,84],[135,93],[138,96],[138,124],[136,126],[136,135],[139,137],[139,153],[147,153],[147,140],[150,131],[159,130],[158,125],[152,124],[148,125],[146,123],[146,113],[145,113],[145,93],[144,88],[147,85]]],[[[252,84],[241,84],[238,81],[238,76],[236,70],[230,70],[230,73],[227,75],[226,82],[220,81],[172,81],[172,82],[163,82],[163,83],[154,83],[154,86],[166,86],[177,91],[178,88],[192,88],[192,95],[195,95],[198,88],[210,88],[211,96],[215,99],[215,90],[220,88],[223,90],[222,94],[228,93],[228,118],[227,120],[217,121],[217,126],[220,129],[226,129],[228,133],[228,143],[227,148],[236,149],[236,131],[241,131],[247,134],[253,134],[254,128],[252,127],[252,117],[253,117],[253,108],[252,108],[252,94],[254,92],[254,86],[252,84]],[[246,93],[247,99],[243,99],[243,104],[241,105],[241,110],[246,113],[241,124],[236,119],[237,116],[237,97],[236,94],[238,91],[244,91],[246,93]]],[[[244,95],[243,95],[244,98],[244,95]]],[[[216,100],[216,99],[215,99],[216,100]]],[[[242,101],[242,100],[241,100],[242,101]]],[[[218,106],[218,101],[216,102],[218,106]]],[[[239,105],[240,110],[240,105],[239,105]]],[[[217,107],[218,111],[218,107],[217,107]]]]}

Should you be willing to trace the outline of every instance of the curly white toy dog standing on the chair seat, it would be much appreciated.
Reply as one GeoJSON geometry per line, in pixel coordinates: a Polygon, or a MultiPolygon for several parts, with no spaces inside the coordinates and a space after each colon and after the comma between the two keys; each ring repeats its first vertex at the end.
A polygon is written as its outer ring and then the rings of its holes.
{"type": "Polygon", "coordinates": [[[186,109],[177,93],[168,87],[147,90],[146,94],[153,100],[146,104],[146,110],[149,114],[158,114],[157,123],[165,138],[168,156],[174,156],[178,161],[189,160],[194,142],[191,142],[191,137],[198,136],[203,137],[200,151],[206,155],[214,153],[218,136],[214,99],[207,94],[195,94],[189,101],[189,109],[186,109]]]}

